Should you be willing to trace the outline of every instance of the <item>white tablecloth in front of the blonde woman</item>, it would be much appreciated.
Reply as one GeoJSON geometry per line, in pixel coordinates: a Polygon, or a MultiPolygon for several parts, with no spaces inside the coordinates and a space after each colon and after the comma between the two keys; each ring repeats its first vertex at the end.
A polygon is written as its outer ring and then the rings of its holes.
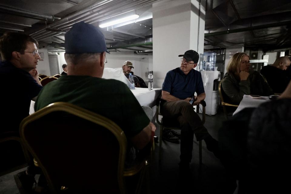
{"type": "Polygon", "coordinates": [[[239,107],[237,107],[233,115],[243,110],[244,108],[258,107],[260,104],[270,101],[268,96],[261,97],[262,99],[254,99],[249,95],[243,95],[243,100],[239,103],[239,107]]]}

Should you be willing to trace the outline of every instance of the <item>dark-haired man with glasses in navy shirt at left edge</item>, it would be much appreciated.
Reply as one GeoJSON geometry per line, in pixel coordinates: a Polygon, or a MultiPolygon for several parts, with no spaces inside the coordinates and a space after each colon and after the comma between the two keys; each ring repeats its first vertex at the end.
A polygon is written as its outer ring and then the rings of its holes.
{"type": "Polygon", "coordinates": [[[29,71],[36,68],[40,56],[38,43],[28,35],[11,32],[0,37],[0,132],[18,132],[19,124],[29,115],[30,101],[35,99],[42,85],[38,72],[32,77],[29,71]],[[9,80],[9,81],[8,81],[9,80]]]}

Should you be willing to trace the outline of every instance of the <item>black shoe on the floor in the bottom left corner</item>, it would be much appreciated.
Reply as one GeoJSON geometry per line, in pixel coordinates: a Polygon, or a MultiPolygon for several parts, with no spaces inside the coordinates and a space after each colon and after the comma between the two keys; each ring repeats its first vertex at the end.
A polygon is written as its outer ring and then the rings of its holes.
{"type": "Polygon", "coordinates": [[[20,193],[32,193],[34,191],[33,188],[35,188],[34,184],[36,186],[36,181],[34,176],[27,175],[26,171],[14,175],[14,179],[20,193]]]}

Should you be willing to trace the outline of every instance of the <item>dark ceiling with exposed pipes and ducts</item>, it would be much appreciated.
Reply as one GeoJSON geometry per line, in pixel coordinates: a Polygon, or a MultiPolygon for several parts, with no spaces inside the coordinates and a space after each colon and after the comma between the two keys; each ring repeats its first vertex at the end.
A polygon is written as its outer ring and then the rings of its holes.
{"type": "MultiPolygon", "coordinates": [[[[98,26],[106,18],[131,11],[144,20],[102,28],[108,49],[149,54],[153,43],[151,9],[157,1],[1,0],[0,34],[24,32],[48,46],[50,52],[63,51],[64,34],[75,22],[98,26]]],[[[290,24],[290,0],[206,0],[204,49],[235,44],[265,51],[290,49],[290,24]]]]}

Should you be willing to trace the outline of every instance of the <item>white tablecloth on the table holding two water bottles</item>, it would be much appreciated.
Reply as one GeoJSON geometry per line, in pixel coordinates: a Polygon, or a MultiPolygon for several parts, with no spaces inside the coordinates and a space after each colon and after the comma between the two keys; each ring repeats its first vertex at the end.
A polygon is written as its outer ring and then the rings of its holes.
{"type": "MultiPolygon", "coordinates": [[[[130,91],[132,91],[133,95],[135,95],[135,98],[139,101],[141,106],[149,106],[151,108],[156,105],[156,99],[162,94],[161,88],[153,89],[152,91],[149,91],[147,88],[135,88],[130,91]]],[[[34,104],[34,101],[30,102],[30,115],[34,113],[34,104]]]]}

